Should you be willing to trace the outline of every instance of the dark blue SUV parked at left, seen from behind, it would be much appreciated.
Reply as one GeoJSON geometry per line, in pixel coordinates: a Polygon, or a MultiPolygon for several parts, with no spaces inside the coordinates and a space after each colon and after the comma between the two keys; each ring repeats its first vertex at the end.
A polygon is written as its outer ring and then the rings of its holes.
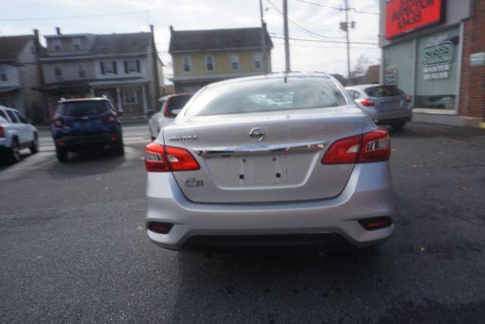
{"type": "Polygon", "coordinates": [[[124,154],[123,132],[113,104],[106,98],[61,100],[51,124],[57,159],[68,160],[69,152],[107,147],[124,154]]]}

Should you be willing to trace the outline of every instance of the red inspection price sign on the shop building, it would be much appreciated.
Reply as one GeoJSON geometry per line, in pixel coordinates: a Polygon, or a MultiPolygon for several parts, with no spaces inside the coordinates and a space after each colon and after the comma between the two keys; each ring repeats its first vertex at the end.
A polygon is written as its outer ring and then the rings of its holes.
{"type": "Polygon", "coordinates": [[[443,0],[387,0],[386,38],[441,21],[443,0]]]}

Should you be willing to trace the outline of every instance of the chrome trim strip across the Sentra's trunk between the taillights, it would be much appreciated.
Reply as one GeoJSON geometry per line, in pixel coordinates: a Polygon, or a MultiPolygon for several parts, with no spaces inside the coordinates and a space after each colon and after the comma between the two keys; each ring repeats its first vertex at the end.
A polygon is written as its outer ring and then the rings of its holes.
{"type": "Polygon", "coordinates": [[[261,153],[295,153],[295,152],[316,152],[325,148],[328,141],[300,142],[288,144],[266,144],[236,147],[210,147],[192,149],[197,155],[211,156],[235,156],[235,155],[254,155],[261,153]]]}

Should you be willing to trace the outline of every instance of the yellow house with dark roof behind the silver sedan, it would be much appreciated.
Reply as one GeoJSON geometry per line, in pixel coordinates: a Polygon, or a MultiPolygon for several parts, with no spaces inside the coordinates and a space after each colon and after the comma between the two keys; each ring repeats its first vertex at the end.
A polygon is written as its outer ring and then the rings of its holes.
{"type": "Polygon", "coordinates": [[[212,82],[271,73],[273,42],[266,28],[264,36],[265,60],[260,27],[175,31],[170,26],[175,91],[195,92],[212,82]]]}

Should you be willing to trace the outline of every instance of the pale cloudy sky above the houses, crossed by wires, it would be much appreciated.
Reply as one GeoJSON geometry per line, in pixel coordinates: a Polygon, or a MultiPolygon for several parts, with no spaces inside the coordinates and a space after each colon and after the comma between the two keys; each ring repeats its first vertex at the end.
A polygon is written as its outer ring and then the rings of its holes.
{"type": "MultiPolygon", "coordinates": [[[[288,0],[291,70],[322,71],[347,75],[343,0],[288,0]],[[308,2],[318,3],[314,5],[308,2]],[[301,27],[301,28],[300,28],[301,27]],[[318,35],[317,35],[318,34],[318,35]],[[325,41],[332,41],[325,42],[325,41]]],[[[74,33],[134,33],[155,26],[155,42],[170,76],[168,54],[169,26],[175,30],[238,28],[260,26],[259,0],[0,0],[0,36],[32,34],[36,28],[43,35],[74,33]],[[96,16],[95,16],[96,15],[96,16]],[[74,16],[74,17],[73,17],[74,16]],[[93,16],[93,17],[87,17],[93,16]]],[[[379,0],[349,0],[355,10],[349,20],[356,22],[350,30],[351,42],[378,42],[379,0]],[[356,12],[358,11],[358,12],[356,12]],[[362,13],[366,12],[366,13],[362,13]]],[[[275,45],[272,50],[273,71],[285,67],[282,0],[263,0],[264,20],[275,45]]],[[[378,63],[377,45],[352,44],[351,67],[364,54],[378,63]]]]}

